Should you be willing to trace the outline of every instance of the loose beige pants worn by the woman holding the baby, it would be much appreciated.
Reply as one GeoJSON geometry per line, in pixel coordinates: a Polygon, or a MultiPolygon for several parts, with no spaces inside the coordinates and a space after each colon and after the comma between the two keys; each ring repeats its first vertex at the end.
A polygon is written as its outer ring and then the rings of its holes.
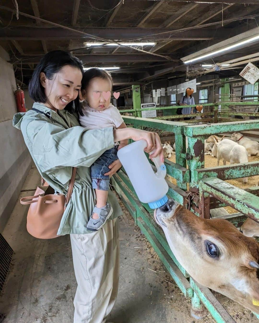
{"type": "Polygon", "coordinates": [[[70,234],[77,289],[74,323],[104,323],[118,292],[118,220],[99,231],[70,234]]]}

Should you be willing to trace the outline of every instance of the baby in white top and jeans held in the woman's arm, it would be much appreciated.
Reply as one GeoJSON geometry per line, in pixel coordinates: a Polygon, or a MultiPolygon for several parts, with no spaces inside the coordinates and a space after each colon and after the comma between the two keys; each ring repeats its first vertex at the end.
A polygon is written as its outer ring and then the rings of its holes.
{"type": "MultiPolygon", "coordinates": [[[[90,68],[84,72],[82,79],[83,116],[79,117],[82,127],[103,129],[114,127],[126,128],[119,110],[110,103],[112,91],[112,77],[109,72],[100,68],[90,68]]],[[[118,159],[117,152],[126,146],[128,140],[120,141],[119,146],[105,151],[91,166],[92,187],[96,191],[96,205],[88,221],[87,229],[97,231],[110,218],[113,210],[107,203],[110,178],[108,166],[118,159]]]]}

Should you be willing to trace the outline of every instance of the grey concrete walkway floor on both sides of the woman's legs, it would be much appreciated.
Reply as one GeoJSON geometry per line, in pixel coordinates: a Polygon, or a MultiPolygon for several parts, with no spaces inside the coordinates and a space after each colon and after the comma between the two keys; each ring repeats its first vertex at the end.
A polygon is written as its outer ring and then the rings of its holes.
{"type": "MultiPolygon", "coordinates": [[[[32,195],[39,183],[32,168],[20,197],[32,195]],[[26,192],[23,192],[26,191],[26,192]]],[[[26,231],[27,207],[17,204],[3,236],[13,248],[10,274],[0,298],[0,313],[5,323],[73,322],[73,297],[76,280],[69,236],[39,240],[26,231]]],[[[120,222],[121,266],[118,299],[109,320],[115,323],[192,322],[179,310],[167,307],[163,286],[148,270],[148,262],[137,253],[133,222],[123,216],[120,222]],[[152,286],[152,295],[151,295],[152,286]]]]}

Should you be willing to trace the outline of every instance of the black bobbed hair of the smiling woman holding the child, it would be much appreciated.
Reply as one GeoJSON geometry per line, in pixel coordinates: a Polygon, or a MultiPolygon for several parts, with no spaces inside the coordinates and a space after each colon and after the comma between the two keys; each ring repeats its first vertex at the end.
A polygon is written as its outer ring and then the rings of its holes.
{"type": "MultiPolygon", "coordinates": [[[[83,63],[69,52],[64,50],[53,50],[45,54],[32,73],[28,88],[30,98],[35,102],[45,103],[47,97],[44,88],[40,83],[40,73],[43,72],[45,73],[46,78],[52,79],[53,75],[58,73],[65,65],[79,68],[82,74],[84,74],[83,63]]],[[[66,105],[65,110],[70,113],[77,112],[78,114],[83,115],[79,95],[75,100],[66,105]]]]}

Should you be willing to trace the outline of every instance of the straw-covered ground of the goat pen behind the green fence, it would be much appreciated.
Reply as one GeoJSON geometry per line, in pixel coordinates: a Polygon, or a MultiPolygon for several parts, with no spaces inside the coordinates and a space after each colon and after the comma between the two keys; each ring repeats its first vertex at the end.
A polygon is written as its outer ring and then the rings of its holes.
{"type": "MultiPolygon", "coordinates": [[[[205,168],[217,166],[217,158],[216,157],[213,157],[210,155],[205,155],[204,157],[205,157],[205,168]]],[[[175,155],[173,155],[171,158],[169,158],[169,160],[175,162],[175,155]]],[[[257,156],[248,157],[248,161],[259,161],[259,157],[257,157],[257,156]]],[[[223,165],[222,159],[220,160],[219,166],[221,166],[221,165],[223,165]]],[[[227,162],[226,165],[229,165],[229,163],[227,162]]],[[[176,184],[176,180],[174,178],[172,178],[171,176],[167,176],[166,179],[169,180],[170,182],[172,182],[173,184],[176,184]]],[[[257,186],[257,184],[259,183],[259,175],[248,177],[247,183],[243,183],[242,178],[228,180],[226,182],[230,183],[231,185],[237,186],[239,188],[245,189],[248,187],[257,186]]],[[[225,209],[230,214],[237,212],[236,210],[234,210],[230,206],[226,206],[225,209]]]]}

